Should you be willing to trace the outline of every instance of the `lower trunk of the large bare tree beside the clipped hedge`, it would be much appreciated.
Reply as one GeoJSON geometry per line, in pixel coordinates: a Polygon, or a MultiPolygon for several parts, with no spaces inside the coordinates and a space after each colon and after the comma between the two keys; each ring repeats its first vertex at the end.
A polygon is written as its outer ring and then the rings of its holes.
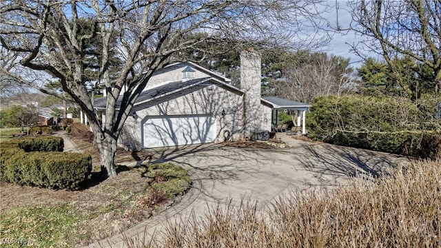
{"type": "Polygon", "coordinates": [[[98,146],[101,162],[101,176],[103,178],[114,178],[116,176],[116,138],[105,134],[103,139],[96,138],[96,145],[98,146]]]}

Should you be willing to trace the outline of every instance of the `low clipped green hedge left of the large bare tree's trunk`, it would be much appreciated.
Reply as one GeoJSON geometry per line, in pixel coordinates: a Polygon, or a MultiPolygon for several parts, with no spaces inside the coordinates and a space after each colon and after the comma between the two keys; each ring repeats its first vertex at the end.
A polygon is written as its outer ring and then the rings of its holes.
{"type": "Polygon", "coordinates": [[[20,138],[1,143],[0,180],[49,189],[79,189],[90,176],[88,154],[63,150],[63,138],[20,138]],[[60,141],[61,139],[61,141],[60,141]]]}

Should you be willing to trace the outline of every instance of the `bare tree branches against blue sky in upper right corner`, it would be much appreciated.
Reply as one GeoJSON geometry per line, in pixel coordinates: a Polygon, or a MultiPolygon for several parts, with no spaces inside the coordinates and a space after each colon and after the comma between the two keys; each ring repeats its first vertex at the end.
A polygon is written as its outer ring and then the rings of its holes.
{"type": "Polygon", "coordinates": [[[348,6],[352,21],[347,30],[362,37],[352,44],[358,55],[376,53],[384,58],[391,76],[409,96],[411,90],[395,63],[404,56],[431,68],[435,74],[433,88],[441,86],[440,0],[358,0],[348,6]]]}

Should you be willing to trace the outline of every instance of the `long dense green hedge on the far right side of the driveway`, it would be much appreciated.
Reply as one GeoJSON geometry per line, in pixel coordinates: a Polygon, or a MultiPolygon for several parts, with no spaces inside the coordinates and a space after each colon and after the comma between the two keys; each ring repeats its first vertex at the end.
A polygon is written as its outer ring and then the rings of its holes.
{"type": "Polygon", "coordinates": [[[323,96],[310,110],[307,125],[314,140],[420,158],[441,154],[440,134],[424,131],[427,116],[406,99],[323,96]]]}

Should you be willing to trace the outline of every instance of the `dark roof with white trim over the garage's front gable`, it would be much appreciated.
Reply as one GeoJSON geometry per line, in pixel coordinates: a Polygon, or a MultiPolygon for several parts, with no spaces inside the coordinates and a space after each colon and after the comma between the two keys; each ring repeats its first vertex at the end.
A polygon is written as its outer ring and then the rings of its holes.
{"type": "MultiPolygon", "coordinates": [[[[160,85],[158,87],[154,87],[152,89],[145,90],[145,91],[141,92],[138,99],[136,99],[136,103],[134,105],[139,105],[139,104],[145,103],[147,101],[152,101],[152,100],[158,99],[162,96],[167,96],[167,95],[179,92],[181,90],[185,90],[189,87],[193,87],[195,85],[201,85],[202,83],[205,83],[208,81],[210,83],[216,83],[216,84],[220,85],[221,87],[228,87],[230,90],[235,90],[236,92],[243,93],[243,90],[240,90],[237,87],[229,85],[223,81],[219,81],[219,80],[214,79],[212,77],[205,77],[202,79],[191,79],[188,81],[177,81],[177,82],[167,83],[165,85],[160,85]]],[[[96,109],[105,109],[106,98],[107,97],[104,96],[99,99],[96,99],[94,101],[94,107],[96,109]]],[[[116,101],[116,106],[115,106],[116,110],[118,110],[119,107],[121,106],[121,101],[123,100],[122,98],[123,98],[123,96],[121,96],[121,95],[118,97],[118,100],[116,101]]]]}

